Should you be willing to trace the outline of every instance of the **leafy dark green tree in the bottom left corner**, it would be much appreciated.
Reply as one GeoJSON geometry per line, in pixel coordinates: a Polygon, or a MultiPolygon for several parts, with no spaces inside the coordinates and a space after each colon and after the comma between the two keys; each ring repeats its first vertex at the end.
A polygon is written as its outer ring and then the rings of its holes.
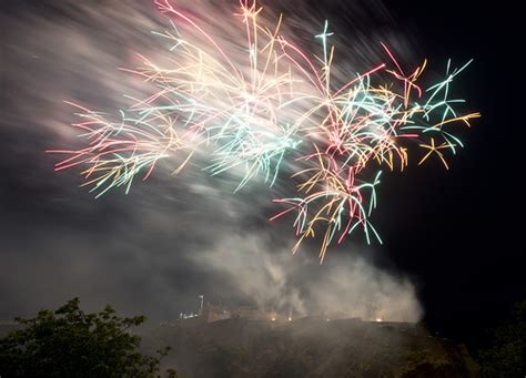
{"type": "MultiPolygon", "coordinates": [[[[73,298],[62,307],[16,321],[21,329],[0,339],[2,377],[154,377],[169,347],[143,355],[131,328],[144,316],[117,316],[108,305],[85,314],[73,298]]],[[[170,372],[173,376],[174,372],[170,372]]]]}

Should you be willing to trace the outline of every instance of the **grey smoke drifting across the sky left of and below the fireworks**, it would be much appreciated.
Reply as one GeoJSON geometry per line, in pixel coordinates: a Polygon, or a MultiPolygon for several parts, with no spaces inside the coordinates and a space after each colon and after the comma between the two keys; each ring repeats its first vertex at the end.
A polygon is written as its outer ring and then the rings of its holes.
{"type": "MultiPolygon", "coordinates": [[[[224,2],[181,3],[223,33],[216,37],[233,53],[240,49],[229,40],[232,30],[221,14],[232,9],[224,2]]],[[[299,316],[345,311],[364,319],[419,318],[415,288],[403,276],[364,257],[344,257],[342,251],[323,266],[308,247],[291,255],[291,229],[280,228],[289,225],[266,221],[273,195],[267,187],[249,185],[234,196],[231,177],[212,180],[190,165],[178,177],[161,172],[138,183],[128,196],[114,193],[94,201],[77,188],[74,174],[53,174],[53,157],[44,151],[77,143],[68,127],[75,121],[72,110],[62,101],[117,115],[130,105],[123,93],[148,95],[148,85],[119,68],[135,67],[135,52],[162,59],[169,45],[151,31],[171,27],[150,1],[16,1],[2,7],[1,317],[30,315],[80,296],[88,308],[112,303],[125,313],[166,319],[205,294],[299,316]]],[[[336,38],[345,55],[353,57],[338,64],[342,72],[360,71],[375,60],[380,49],[371,48],[371,39],[408,49],[378,2],[367,10],[344,2],[333,7],[345,9],[334,29],[347,24],[336,38]],[[372,11],[377,20],[367,16],[372,11]],[[365,30],[377,31],[366,35],[365,30]]],[[[293,1],[280,11],[296,41],[313,43],[307,41],[323,22],[316,8],[293,1]]]]}

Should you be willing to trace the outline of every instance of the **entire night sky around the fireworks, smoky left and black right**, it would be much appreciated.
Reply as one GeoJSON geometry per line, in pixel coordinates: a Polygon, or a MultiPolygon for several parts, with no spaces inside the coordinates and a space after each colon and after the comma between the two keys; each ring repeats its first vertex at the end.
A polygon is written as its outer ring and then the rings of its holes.
{"type": "Polygon", "coordinates": [[[78,188],[74,172],[53,173],[54,160],[44,154],[72,141],[72,111],[61,101],[111,112],[122,93],[140,92],[117,68],[133,67],[132,51],[160,50],[149,31],[162,29],[162,17],[146,0],[119,6],[125,11],[111,1],[4,1],[0,319],[74,295],[88,306],[110,302],[154,319],[186,310],[201,293],[226,302],[281,296],[300,307],[338,300],[312,288],[321,283],[353,305],[361,294],[406,300],[408,313],[419,311],[414,295],[432,329],[474,340],[526,298],[518,12],[471,0],[297,3],[300,14],[328,18],[353,51],[362,51],[353,37],[365,35],[398,42],[409,61],[426,57],[437,72],[448,58],[475,59],[457,89],[483,118],[462,132],[466,149],[449,160],[448,172],[431,163],[385,175],[374,217],[384,245],[357,239],[323,267],[312,248],[294,259],[286,252],[290,229],[265,222],[270,190],[253,185],[232,196],[229,177],[199,170],[159,174],[129,196],[94,201],[78,188]],[[346,278],[335,287],[334,277],[346,278]],[[275,293],[261,289],[269,282],[275,293]]]}

